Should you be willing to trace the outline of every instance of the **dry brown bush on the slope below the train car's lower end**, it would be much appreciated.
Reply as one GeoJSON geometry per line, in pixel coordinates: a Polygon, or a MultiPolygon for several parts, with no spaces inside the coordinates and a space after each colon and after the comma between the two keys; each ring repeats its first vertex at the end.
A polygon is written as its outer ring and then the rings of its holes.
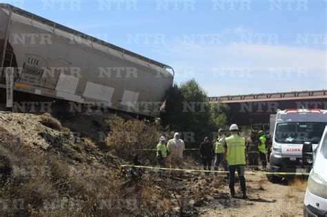
{"type": "Polygon", "coordinates": [[[140,150],[156,147],[162,134],[155,125],[137,119],[124,121],[117,115],[111,116],[107,123],[110,126],[110,134],[106,138],[106,144],[115,155],[126,161],[130,161],[133,154],[150,160],[155,158],[155,154],[149,155],[148,152],[140,150]]]}

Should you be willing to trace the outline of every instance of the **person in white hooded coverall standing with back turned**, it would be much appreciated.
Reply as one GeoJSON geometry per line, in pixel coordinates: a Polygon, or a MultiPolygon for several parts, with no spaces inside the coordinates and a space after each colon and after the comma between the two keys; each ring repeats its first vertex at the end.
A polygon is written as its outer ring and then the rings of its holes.
{"type": "Polygon", "coordinates": [[[179,133],[175,133],[174,138],[167,143],[167,151],[170,155],[170,167],[172,165],[181,166],[183,161],[183,152],[185,149],[184,141],[179,138],[179,133]]]}

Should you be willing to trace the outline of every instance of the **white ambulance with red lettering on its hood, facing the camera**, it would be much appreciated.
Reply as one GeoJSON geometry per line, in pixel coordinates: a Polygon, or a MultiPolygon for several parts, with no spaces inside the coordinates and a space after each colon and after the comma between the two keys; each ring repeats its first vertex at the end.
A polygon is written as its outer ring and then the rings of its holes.
{"type": "Polygon", "coordinates": [[[294,173],[310,172],[311,165],[302,159],[302,146],[310,142],[316,149],[326,124],[327,110],[277,110],[277,114],[270,117],[273,145],[266,170],[293,174],[267,174],[268,180],[278,183],[282,178],[294,176],[294,173]]]}

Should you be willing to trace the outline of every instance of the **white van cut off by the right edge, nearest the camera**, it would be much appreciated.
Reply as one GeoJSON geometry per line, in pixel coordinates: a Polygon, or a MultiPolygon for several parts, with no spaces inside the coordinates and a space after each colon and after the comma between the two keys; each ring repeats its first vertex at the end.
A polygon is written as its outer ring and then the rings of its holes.
{"type": "Polygon", "coordinates": [[[306,143],[302,149],[304,161],[313,162],[304,198],[304,216],[327,216],[327,127],[315,152],[306,143]]]}

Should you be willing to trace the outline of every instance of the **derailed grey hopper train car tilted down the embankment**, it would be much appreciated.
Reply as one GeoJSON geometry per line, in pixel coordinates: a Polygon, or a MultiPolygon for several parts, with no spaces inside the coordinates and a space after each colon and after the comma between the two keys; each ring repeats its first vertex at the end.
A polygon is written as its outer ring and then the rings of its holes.
{"type": "MultiPolygon", "coordinates": [[[[174,79],[165,64],[8,4],[0,4],[0,63],[14,90],[157,116],[174,79]]],[[[6,88],[1,70],[0,87],[6,88]]]]}

